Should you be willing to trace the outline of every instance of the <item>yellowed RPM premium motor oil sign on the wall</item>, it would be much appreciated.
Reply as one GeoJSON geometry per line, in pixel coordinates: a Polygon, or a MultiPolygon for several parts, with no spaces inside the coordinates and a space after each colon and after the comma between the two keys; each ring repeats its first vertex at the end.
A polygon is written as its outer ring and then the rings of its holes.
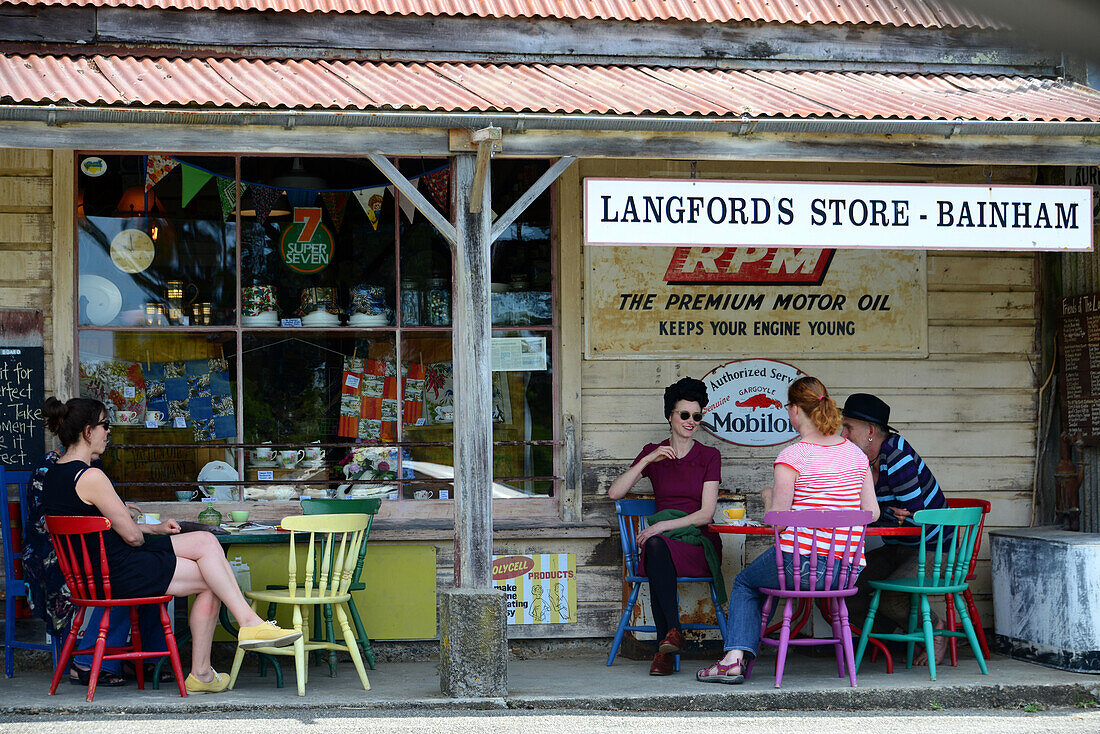
{"type": "Polygon", "coordinates": [[[927,354],[919,250],[585,248],[587,359],[927,354]]]}

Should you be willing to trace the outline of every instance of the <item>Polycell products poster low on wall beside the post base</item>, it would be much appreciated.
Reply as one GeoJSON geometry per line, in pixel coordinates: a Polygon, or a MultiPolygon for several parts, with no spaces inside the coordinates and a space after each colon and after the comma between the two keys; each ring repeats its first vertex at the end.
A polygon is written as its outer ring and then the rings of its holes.
{"type": "Polygon", "coordinates": [[[576,622],[576,556],[493,556],[493,585],[507,598],[508,624],[576,622]]]}

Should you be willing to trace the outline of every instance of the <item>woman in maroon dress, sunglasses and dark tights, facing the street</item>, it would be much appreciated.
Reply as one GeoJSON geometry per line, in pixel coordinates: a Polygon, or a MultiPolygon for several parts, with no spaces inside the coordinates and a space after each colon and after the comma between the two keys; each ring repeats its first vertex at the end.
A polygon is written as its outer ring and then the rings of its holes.
{"type": "Polygon", "coordinates": [[[658,514],[674,515],[660,519],[638,533],[641,548],[639,573],[649,578],[650,604],[657,626],[657,655],[649,675],[672,672],[672,655],[683,649],[683,631],[676,607],[678,576],[714,576],[721,582],[722,541],[706,526],[714,522],[714,506],[722,480],[722,457],[718,450],[695,441],[695,431],[703,421],[706,407],[706,385],[684,377],[664,391],[664,417],[670,436],[660,443],[647,443],[622,476],[616,479],[607,495],[619,500],[638,483],[649,478],[658,514]],[[666,511],[673,511],[668,513],[666,511]],[[682,528],[698,528],[702,544],[710,544],[711,562],[705,545],[695,545],[668,537],[682,528]]]}

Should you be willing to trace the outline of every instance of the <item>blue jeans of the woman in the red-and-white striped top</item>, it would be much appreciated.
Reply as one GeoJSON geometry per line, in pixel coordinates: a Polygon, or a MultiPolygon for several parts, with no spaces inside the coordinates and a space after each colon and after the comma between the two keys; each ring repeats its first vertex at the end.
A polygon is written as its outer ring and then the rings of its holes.
{"type": "MultiPolygon", "coordinates": [[[[787,582],[790,585],[794,578],[794,558],[783,554],[783,566],[787,571],[787,582]]],[[[817,562],[817,579],[814,589],[825,588],[825,571],[828,563],[817,562]]],[[[836,559],[833,568],[833,588],[836,588],[840,559],[836,559]]],[[[799,571],[802,589],[810,589],[810,557],[802,557],[799,571]]],[[[763,602],[767,599],[761,589],[779,589],[779,569],[776,567],[776,548],[769,548],[745,567],[734,579],[733,591],[729,592],[729,604],[726,606],[725,649],[745,650],[756,657],[760,649],[760,615],[763,613],[763,602]]],[[[776,607],[771,612],[774,614],[776,607]]]]}

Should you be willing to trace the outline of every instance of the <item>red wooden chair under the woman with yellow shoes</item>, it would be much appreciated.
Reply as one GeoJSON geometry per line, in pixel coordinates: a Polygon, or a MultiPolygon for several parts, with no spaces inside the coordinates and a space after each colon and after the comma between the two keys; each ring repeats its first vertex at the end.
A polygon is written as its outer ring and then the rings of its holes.
{"type": "Polygon", "coordinates": [[[62,648],[61,660],[50,683],[50,694],[57,691],[69,660],[74,655],[92,654],[91,672],[88,680],[88,701],[96,698],[96,683],[99,682],[99,670],[103,660],[133,660],[138,673],[138,688],[145,688],[145,675],[142,660],[164,657],[172,660],[172,670],[176,673],[179,694],[187,695],[184,688],[184,669],[179,664],[179,650],[176,648],[176,636],[172,632],[172,620],[168,618],[167,603],[172,596],[141,596],[134,599],[113,599],[111,596],[110,571],[107,565],[107,551],[103,549],[103,533],[111,528],[111,522],[106,517],[66,517],[61,515],[46,516],[46,529],[57,551],[57,563],[62,568],[65,583],[69,588],[73,603],[77,606],[73,618],[73,627],[62,648]],[[91,544],[88,538],[95,535],[91,544]],[[98,545],[97,545],[98,544],[98,545]],[[89,550],[89,545],[91,549],[89,550]],[[92,554],[99,555],[99,562],[92,561],[92,554]],[[161,624],[164,625],[164,639],[168,644],[167,653],[146,653],[141,648],[141,633],[138,625],[138,607],[144,604],[156,604],[161,607],[161,624]],[[89,606],[105,606],[99,623],[99,637],[95,648],[74,649],[80,637],[80,625],[89,606]],[[110,627],[111,609],[116,606],[130,607],[130,644],[121,647],[107,647],[107,629],[110,627]]]}

